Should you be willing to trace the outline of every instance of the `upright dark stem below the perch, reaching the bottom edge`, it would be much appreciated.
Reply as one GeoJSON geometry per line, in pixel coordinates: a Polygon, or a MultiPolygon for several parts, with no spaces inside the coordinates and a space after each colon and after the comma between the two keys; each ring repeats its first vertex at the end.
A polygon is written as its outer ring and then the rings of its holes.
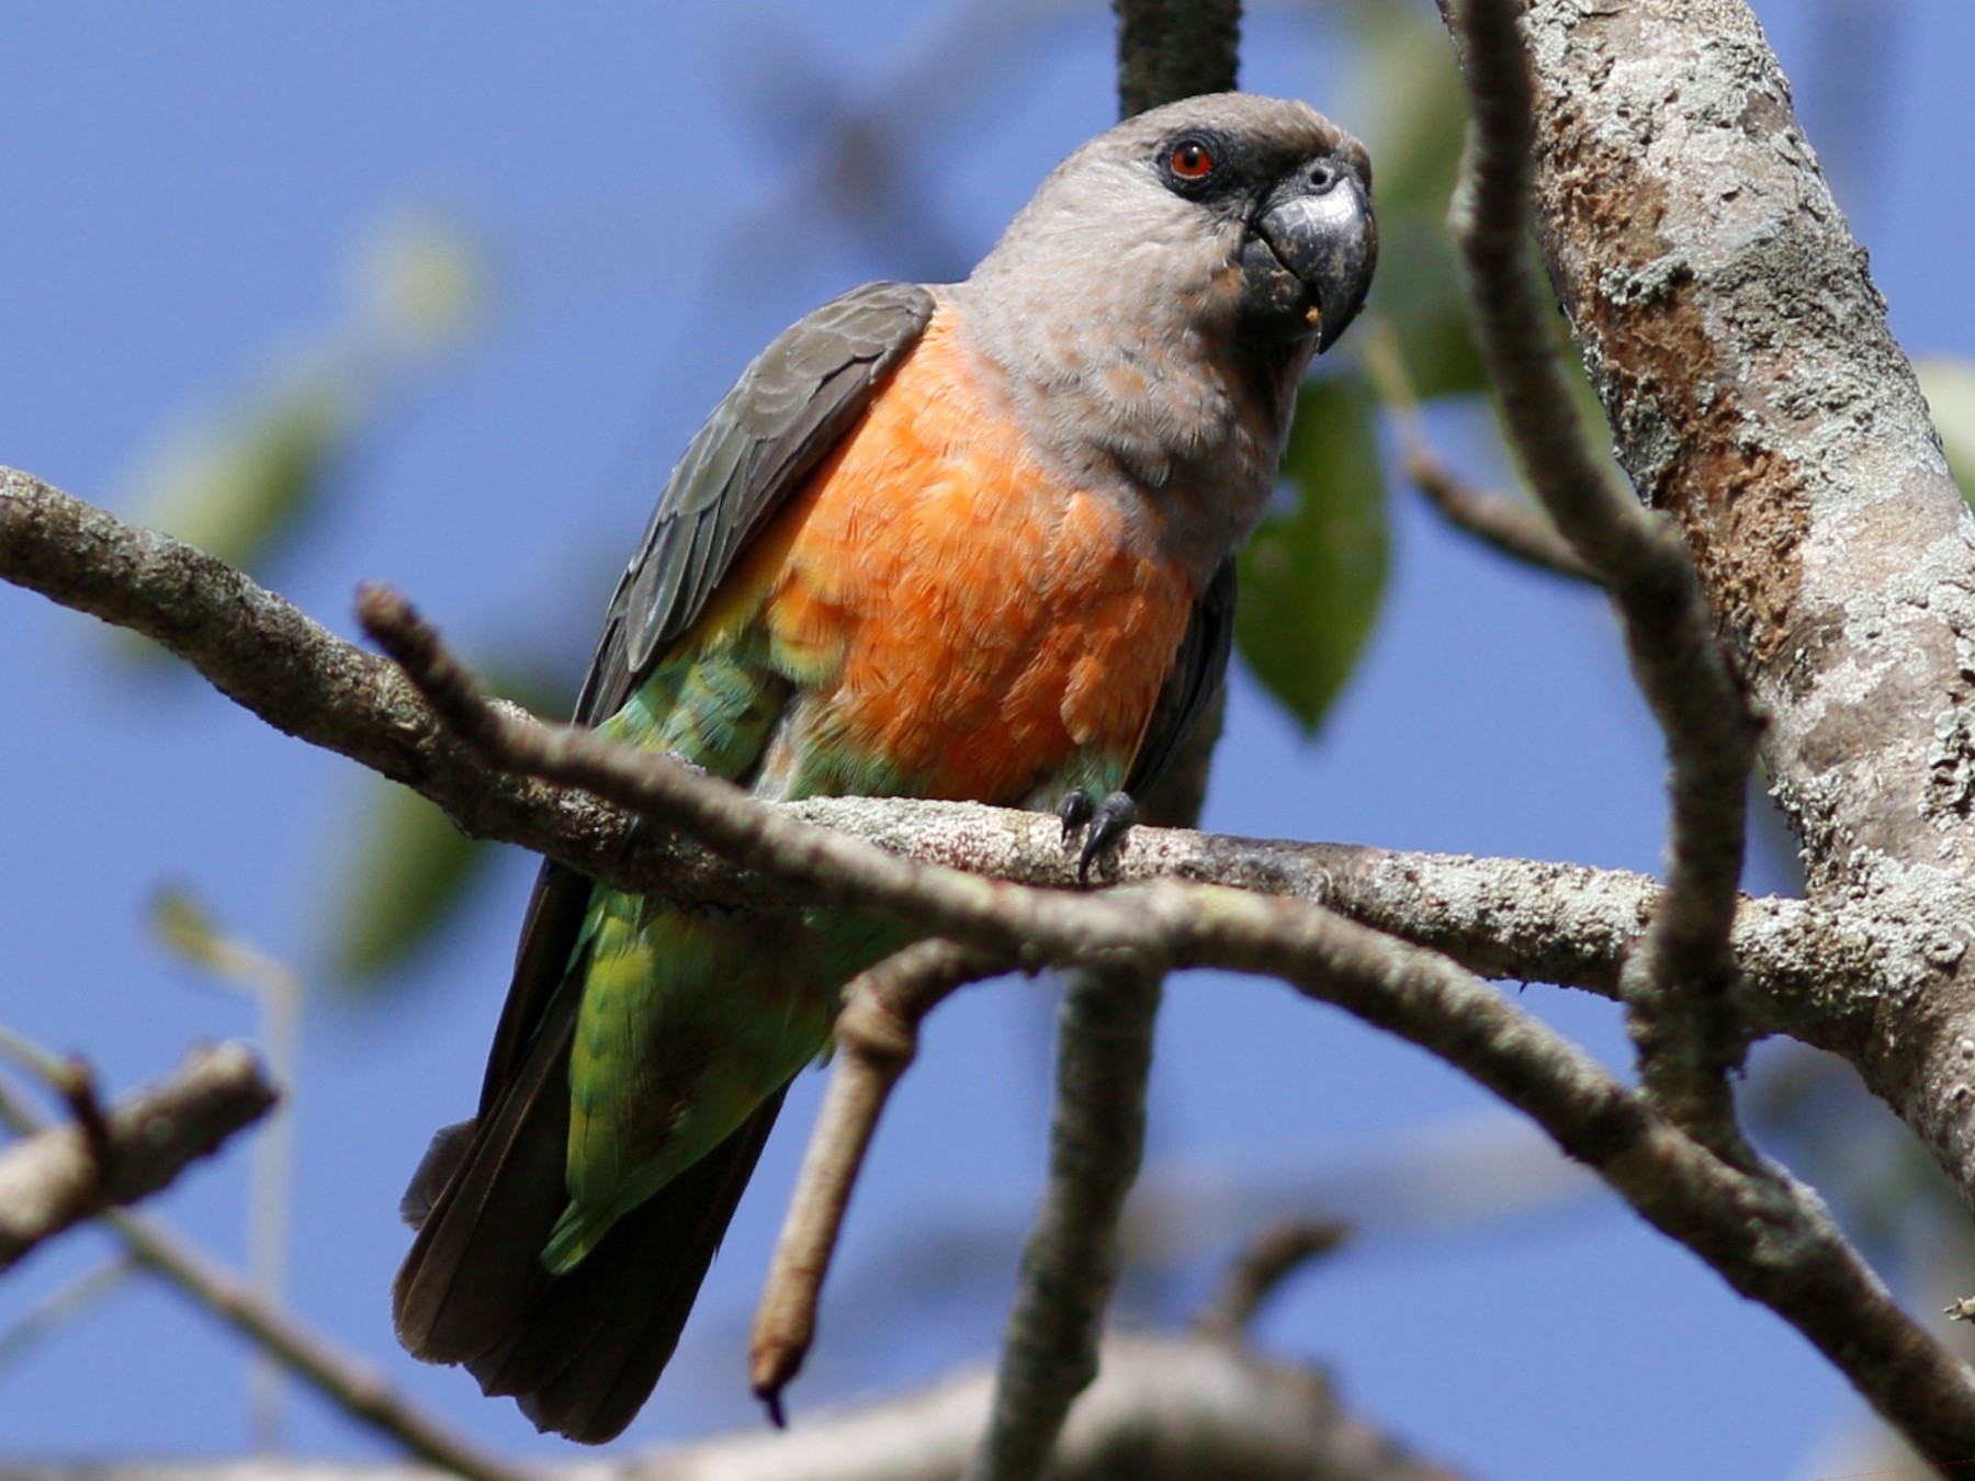
{"type": "Polygon", "coordinates": [[[1041,1475],[1070,1404],[1098,1374],[1118,1220],[1146,1151],[1163,968],[1130,958],[1086,966],[1063,993],[1049,1183],[1021,1252],[993,1414],[968,1481],[1041,1475]]]}

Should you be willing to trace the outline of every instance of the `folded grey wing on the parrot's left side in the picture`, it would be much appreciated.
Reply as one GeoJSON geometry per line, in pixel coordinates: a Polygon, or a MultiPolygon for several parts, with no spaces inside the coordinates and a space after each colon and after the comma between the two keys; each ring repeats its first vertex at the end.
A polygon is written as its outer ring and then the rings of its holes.
{"type": "Polygon", "coordinates": [[[687,444],[618,583],[577,719],[614,711],[782,500],[851,429],[918,342],[934,300],[871,282],[784,330],[687,444]]]}

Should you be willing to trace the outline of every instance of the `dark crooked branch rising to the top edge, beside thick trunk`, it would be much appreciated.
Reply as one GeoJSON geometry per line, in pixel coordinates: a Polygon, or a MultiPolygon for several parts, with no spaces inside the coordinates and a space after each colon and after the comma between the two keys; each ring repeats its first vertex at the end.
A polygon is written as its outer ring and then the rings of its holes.
{"type": "Polygon", "coordinates": [[[1728,999],[1728,932],[1758,727],[1714,638],[1685,545],[1606,480],[1566,415],[1570,391],[1544,328],[1548,300],[1527,251],[1535,124],[1519,6],[1463,0],[1454,10],[1475,115],[1456,215],[1481,351],[1525,476],[1612,596],[1673,770],[1667,893],[1627,975],[1641,1080],[1681,1126],[1754,1167],[1728,1088],[1746,1047],[1728,999]]]}

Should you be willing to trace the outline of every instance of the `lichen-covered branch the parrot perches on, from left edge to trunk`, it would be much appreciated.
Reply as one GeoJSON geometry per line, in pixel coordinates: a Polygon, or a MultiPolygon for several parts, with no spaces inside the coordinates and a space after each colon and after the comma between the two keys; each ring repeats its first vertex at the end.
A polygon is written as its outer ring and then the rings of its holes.
{"type": "MultiPolygon", "coordinates": [[[[269,725],[336,750],[444,808],[474,837],[547,853],[608,885],[709,904],[788,904],[760,873],[709,855],[577,788],[488,766],[446,731],[395,665],[352,648],[275,592],[201,551],[134,529],[40,480],[0,470],[0,577],[156,638],[269,725]]],[[[974,804],[841,798],[794,814],[895,853],[1031,885],[1074,883],[1055,819],[974,804]]],[[[1448,950],[1485,975],[1614,991],[1655,887],[1639,875],[1515,859],[1460,859],[1355,845],[1264,843],[1134,829],[1118,881],[1159,875],[1298,895],[1448,950]]],[[[1870,962],[1888,981],[1936,974],[1939,942],[1872,922],[1744,906],[1738,938],[1752,1017],[1839,1047],[1847,983],[1870,962]],[[1817,952],[1797,950],[1815,944],[1817,952]],[[1819,1025],[1827,1037],[1819,1037],[1819,1025]]]]}

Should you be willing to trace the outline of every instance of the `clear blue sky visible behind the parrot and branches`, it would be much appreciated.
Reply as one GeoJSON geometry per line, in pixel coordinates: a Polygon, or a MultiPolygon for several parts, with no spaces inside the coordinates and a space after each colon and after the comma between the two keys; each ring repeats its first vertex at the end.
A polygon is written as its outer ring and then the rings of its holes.
{"type": "MultiPolygon", "coordinates": [[[[1941,164],[1975,128],[1975,10],[1758,12],[1896,334],[1975,355],[1961,284],[1975,188],[1941,164]],[[1819,45],[1837,12],[1878,26],[1882,73],[1870,47],[1819,45]],[[1849,111],[1860,79],[1878,128],[1849,111]]],[[[486,322],[403,381],[267,579],[350,634],[354,585],[383,577],[468,652],[571,671],[670,456],[747,357],[851,282],[964,271],[1114,109],[1094,4],[30,2],[0,12],[0,462],[128,507],[174,427],[276,383],[350,322],[352,263],[383,223],[456,219],[490,255],[486,322]],[[901,195],[871,195],[875,172],[822,170],[831,99],[883,111],[901,195]],[[889,211],[879,227],[873,211],[889,211]]],[[[1353,122],[1349,51],[1317,10],[1258,8],[1244,83],[1353,122]]],[[[1460,417],[1442,430],[1465,466],[1497,472],[1460,417]]],[[[89,620],[12,588],[0,691],[0,1021],[87,1052],[113,1088],[196,1039],[251,1035],[249,1007],[150,940],[162,883],[294,962],[320,991],[294,1104],[292,1305],[486,1443],[571,1453],[464,1376],[405,1359],[387,1311],[397,1195],[429,1131],[474,1096],[527,861],[504,861],[389,993],[338,995],[324,920],[369,796],[356,768],[184,675],[132,671],[89,620]]],[[[1304,742],[1238,681],[1205,821],[1651,869],[1657,788],[1657,740],[1600,604],[1398,498],[1392,588],[1351,689],[1304,742]]],[[[1758,859],[1750,885],[1783,881],[1758,859]]],[[[1554,989],[1521,1001],[1621,1062],[1610,1007],[1554,989]]],[[[885,1272],[924,1248],[914,1230],[1025,1218],[1047,1116],[1043,1003],[999,983],[932,1023],[853,1210],[847,1299],[826,1309],[798,1418],[989,1351],[1005,1256],[926,1303],[889,1291],[885,1272]]],[[[634,1440],[752,1422],[739,1343],[818,1088],[798,1088],[634,1440]]],[[[1153,1094],[1153,1169],[1207,1169],[1244,1199],[1280,1183],[1284,1207],[1501,1118],[1416,1051],[1226,977],[1171,987],[1153,1094]]],[[[229,1151],[156,1210],[239,1260],[245,1179],[245,1151],[229,1151]]],[[[71,1238],[0,1282],[0,1327],[107,1248],[71,1238]]],[[[1183,1311],[1224,1254],[1207,1248],[1149,1291],[1147,1315],[1183,1311]]],[[[1801,1339],[1600,1195],[1456,1226],[1367,1218],[1262,1337],[1487,1475],[1809,1475],[1853,1414],[1801,1339]]],[[[239,1449],[243,1366],[233,1337],[134,1286],[0,1370],[0,1451],[239,1449]]],[[[292,1402],[290,1443],[381,1453],[310,1396],[292,1402]]]]}

